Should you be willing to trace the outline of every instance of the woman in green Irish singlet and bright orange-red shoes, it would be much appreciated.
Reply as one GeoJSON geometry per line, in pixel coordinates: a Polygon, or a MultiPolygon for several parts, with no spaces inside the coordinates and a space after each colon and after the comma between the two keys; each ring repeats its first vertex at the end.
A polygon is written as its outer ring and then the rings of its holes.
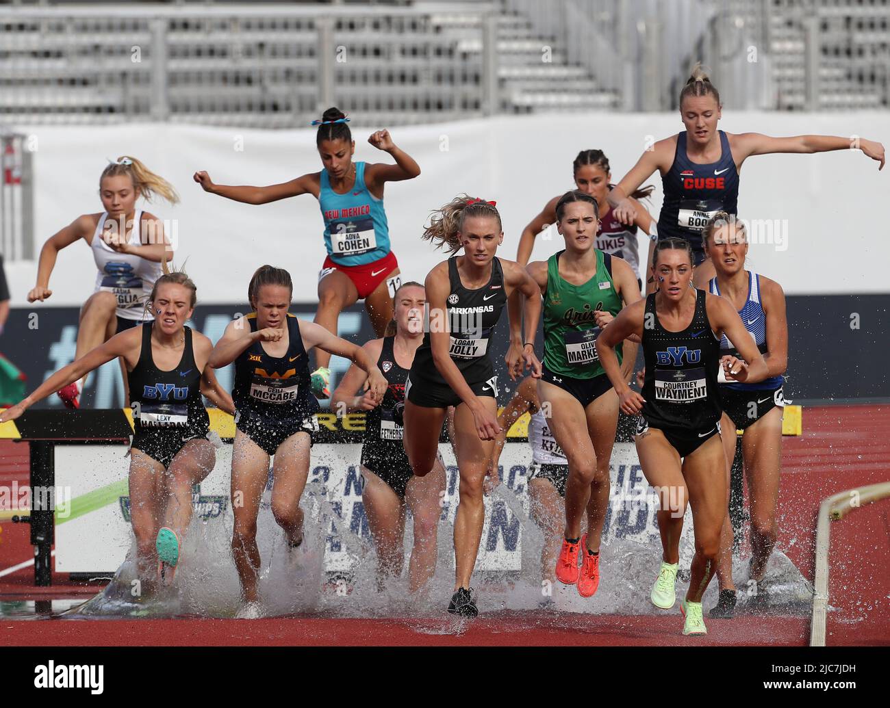
{"type": "MultiPolygon", "coordinates": [[[[618,426],[618,396],[596,356],[596,337],[621,310],[640,299],[626,261],[595,248],[596,201],[567,192],[556,205],[565,250],[529,265],[544,295],[544,367],[538,381],[541,409],[569,461],[565,490],[565,534],[556,578],[578,584],[590,597],[600,580],[599,549],[609,503],[609,458],[618,426]],[[587,534],[580,537],[587,510],[587,534]],[[585,546],[578,570],[578,551],[585,546]]],[[[635,347],[633,348],[635,353],[635,347]]],[[[634,357],[624,369],[629,376],[634,357]]]]}

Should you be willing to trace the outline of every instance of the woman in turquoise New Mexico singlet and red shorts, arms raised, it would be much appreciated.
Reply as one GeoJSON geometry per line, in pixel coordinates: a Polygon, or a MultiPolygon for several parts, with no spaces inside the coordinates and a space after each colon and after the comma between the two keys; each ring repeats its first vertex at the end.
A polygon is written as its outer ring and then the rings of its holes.
{"type": "MultiPolygon", "coordinates": [[[[399,263],[390,248],[384,186],[389,181],[417,177],[420,167],[396,147],[387,130],[372,133],[368,142],[388,152],[395,165],[353,162],[355,141],[348,122],[349,118],[336,108],[326,110],[321,120],[312,121],[312,125],[318,125],[315,141],[324,165],[321,172],[269,187],[214,184],[206,172],[195,173],[194,179],[208,192],[248,204],[267,204],[301,194],[317,198],[325,221],[328,258],[319,275],[315,322],[336,334],[340,312],[364,300],[374,331],[383,336],[392,320],[392,296],[401,284],[399,263]]],[[[319,350],[315,360],[312,390],[318,398],[328,398],[330,355],[319,350]]]]}

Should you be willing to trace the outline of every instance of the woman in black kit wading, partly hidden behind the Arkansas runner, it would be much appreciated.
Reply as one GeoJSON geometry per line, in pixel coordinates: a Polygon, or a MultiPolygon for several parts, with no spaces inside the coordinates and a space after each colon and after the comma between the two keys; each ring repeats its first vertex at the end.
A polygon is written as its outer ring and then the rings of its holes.
{"type": "Polygon", "coordinates": [[[378,403],[368,394],[356,395],[368,376],[354,365],[331,398],[331,408],[338,415],[368,411],[361,446],[361,500],[374,538],[380,587],[385,586],[388,577],[401,575],[405,565],[405,520],[411,513],[414,544],[408,576],[412,592],[424,588],[436,569],[439,500],[445,489],[441,459],[432,474],[415,477],[403,443],[405,383],[417,347],[424,340],[425,302],[424,286],[403,284],[395,294],[395,318],[386,336],[364,346],[389,384],[383,401],[378,403]]]}

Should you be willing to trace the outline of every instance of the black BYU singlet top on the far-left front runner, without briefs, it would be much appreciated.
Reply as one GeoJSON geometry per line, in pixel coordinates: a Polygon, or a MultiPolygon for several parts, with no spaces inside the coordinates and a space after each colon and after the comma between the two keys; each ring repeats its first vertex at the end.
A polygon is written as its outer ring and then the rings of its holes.
{"type": "Polygon", "coordinates": [[[210,424],[201,400],[201,372],[195,366],[191,328],[183,327],[182,358],[172,371],[161,371],[151,356],[152,323],[142,325],[142,350],[133,371],[127,374],[133,406],[134,428],[186,432],[210,424]]]}

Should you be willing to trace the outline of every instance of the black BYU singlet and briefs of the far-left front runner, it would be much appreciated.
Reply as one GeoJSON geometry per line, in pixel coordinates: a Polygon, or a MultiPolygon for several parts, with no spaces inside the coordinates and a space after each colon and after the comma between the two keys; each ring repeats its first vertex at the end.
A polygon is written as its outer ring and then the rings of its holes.
{"type": "Polygon", "coordinates": [[[183,328],[185,347],[179,365],[161,371],[151,356],[151,327],[150,322],[142,325],[142,351],[128,375],[133,447],[167,468],[186,442],[206,438],[210,419],[201,399],[201,371],[195,366],[191,328],[183,328]]]}

